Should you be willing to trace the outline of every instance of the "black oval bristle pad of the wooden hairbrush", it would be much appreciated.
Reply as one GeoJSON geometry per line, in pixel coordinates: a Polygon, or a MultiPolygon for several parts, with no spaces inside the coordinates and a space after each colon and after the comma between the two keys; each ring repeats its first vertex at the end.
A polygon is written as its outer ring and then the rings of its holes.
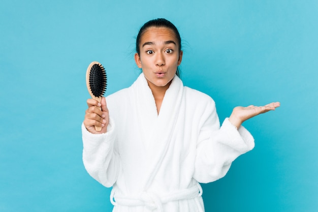
{"type": "Polygon", "coordinates": [[[89,72],[89,87],[95,97],[102,97],[106,92],[107,76],[102,65],[94,64],[89,72]]]}

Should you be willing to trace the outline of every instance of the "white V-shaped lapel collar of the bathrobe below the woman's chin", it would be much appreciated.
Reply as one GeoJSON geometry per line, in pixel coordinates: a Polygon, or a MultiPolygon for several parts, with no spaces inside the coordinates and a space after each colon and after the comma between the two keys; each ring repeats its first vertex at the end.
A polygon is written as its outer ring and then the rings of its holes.
{"type": "Polygon", "coordinates": [[[143,191],[146,191],[160,168],[171,142],[171,136],[181,110],[183,84],[179,77],[174,77],[166,91],[159,115],[157,115],[153,95],[143,74],[136,80],[134,90],[137,117],[140,117],[141,142],[143,142],[146,152],[146,174],[143,180],[143,191]]]}

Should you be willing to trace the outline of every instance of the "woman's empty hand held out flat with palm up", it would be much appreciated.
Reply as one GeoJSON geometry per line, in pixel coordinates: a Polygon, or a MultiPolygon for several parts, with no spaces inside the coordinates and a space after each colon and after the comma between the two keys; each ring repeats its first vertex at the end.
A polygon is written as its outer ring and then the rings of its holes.
{"type": "Polygon", "coordinates": [[[279,102],[272,102],[270,104],[267,104],[265,106],[254,106],[250,105],[247,107],[235,107],[233,109],[233,112],[229,118],[229,121],[237,128],[241,126],[241,124],[254,116],[257,116],[261,113],[266,113],[270,110],[275,110],[276,107],[279,107],[279,102]]]}

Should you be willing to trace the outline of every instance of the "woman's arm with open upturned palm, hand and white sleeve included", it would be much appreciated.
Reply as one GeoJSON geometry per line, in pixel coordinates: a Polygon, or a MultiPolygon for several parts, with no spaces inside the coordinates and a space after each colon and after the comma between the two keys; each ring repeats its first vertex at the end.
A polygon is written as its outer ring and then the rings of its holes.
{"type": "Polygon", "coordinates": [[[219,128],[215,105],[208,105],[202,115],[206,118],[200,127],[194,177],[202,183],[208,183],[225,176],[232,162],[255,145],[253,137],[241,126],[242,123],[279,106],[280,103],[276,102],[261,107],[235,107],[230,118],[226,118],[219,128]]]}

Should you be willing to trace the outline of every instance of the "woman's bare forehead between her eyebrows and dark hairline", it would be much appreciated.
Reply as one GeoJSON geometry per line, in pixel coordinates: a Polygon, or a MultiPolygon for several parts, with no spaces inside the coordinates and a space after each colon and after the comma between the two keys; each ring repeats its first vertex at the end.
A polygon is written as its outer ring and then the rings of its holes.
{"type": "Polygon", "coordinates": [[[149,27],[141,35],[140,45],[145,42],[174,41],[178,43],[175,33],[167,27],[149,27]]]}

